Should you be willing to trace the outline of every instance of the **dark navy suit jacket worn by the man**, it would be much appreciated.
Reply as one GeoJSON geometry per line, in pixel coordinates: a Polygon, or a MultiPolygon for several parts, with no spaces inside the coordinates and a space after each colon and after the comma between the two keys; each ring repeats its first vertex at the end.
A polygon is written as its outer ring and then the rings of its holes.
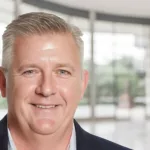
{"type": "MultiPolygon", "coordinates": [[[[76,121],[74,124],[77,150],[130,150],[84,131],[76,121]]],[[[8,150],[7,116],[0,121],[0,150],[8,150]]]]}

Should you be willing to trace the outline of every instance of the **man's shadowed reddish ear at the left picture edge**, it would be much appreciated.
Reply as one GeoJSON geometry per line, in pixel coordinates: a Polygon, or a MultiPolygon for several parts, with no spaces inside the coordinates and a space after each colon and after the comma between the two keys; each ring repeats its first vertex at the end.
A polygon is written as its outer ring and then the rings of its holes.
{"type": "Polygon", "coordinates": [[[6,78],[2,67],[0,67],[0,91],[2,97],[6,97],[6,78]]]}

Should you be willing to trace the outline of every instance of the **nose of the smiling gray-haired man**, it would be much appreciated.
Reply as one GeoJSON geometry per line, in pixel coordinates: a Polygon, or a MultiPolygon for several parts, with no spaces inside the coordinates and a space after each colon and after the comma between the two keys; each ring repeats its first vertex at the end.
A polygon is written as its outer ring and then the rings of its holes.
{"type": "Polygon", "coordinates": [[[50,74],[43,75],[35,92],[44,97],[56,94],[56,79],[50,74]]]}

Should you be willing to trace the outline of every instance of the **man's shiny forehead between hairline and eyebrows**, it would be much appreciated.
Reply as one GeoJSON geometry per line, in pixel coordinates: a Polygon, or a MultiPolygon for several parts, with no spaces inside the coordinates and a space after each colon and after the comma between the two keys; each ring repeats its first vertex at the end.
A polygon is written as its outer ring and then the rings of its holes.
{"type": "MultiPolygon", "coordinates": [[[[69,33],[17,37],[14,43],[14,60],[80,62],[80,52],[69,33]]],[[[19,63],[18,62],[18,63],[19,63]]]]}

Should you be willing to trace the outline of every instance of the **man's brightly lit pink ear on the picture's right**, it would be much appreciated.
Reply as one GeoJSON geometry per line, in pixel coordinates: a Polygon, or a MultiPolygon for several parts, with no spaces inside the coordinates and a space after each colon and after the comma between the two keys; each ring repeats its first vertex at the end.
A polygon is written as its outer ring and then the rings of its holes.
{"type": "Polygon", "coordinates": [[[87,88],[88,85],[88,81],[89,81],[89,73],[87,70],[83,70],[82,73],[82,94],[81,94],[81,98],[83,97],[85,90],[87,88]]]}

